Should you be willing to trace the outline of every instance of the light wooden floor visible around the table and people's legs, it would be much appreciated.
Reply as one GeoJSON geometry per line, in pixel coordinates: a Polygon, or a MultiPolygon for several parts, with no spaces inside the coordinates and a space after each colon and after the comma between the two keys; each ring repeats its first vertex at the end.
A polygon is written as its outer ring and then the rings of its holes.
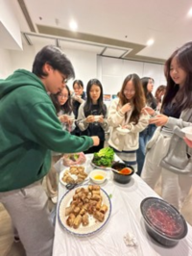
{"type": "MultiPolygon", "coordinates": [[[[160,194],[160,186],[156,186],[156,192],[160,194]]],[[[50,202],[50,208],[53,205],[50,202]]],[[[192,225],[192,190],[187,197],[181,211],[184,218],[192,225]]],[[[13,242],[12,220],[0,204],[0,255],[1,256],[25,256],[21,243],[13,242]]]]}

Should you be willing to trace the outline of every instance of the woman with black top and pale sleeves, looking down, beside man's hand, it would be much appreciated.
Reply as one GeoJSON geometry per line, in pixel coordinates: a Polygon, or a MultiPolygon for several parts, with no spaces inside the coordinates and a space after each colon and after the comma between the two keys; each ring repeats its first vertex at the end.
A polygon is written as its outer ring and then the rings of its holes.
{"type": "Polygon", "coordinates": [[[86,101],[80,106],[77,125],[82,135],[97,135],[100,144],[84,153],[98,152],[104,147],[105,132],[108,131],[107,106],[103,100],[103,87],[98,79],[91,79],[86,87],[86,101]]]}

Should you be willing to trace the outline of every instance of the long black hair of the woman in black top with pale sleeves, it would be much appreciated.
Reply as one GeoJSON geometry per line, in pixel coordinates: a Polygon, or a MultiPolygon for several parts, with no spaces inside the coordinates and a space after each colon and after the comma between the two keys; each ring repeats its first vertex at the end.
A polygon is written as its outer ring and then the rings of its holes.
{"type": "Polygon", "coordinates": [[[91,90],[91,87],[95,85],[97,87],[100,88],[101,90],[101,93],[100,93],[100,97],[98,99],[98,107],[99,107],[99,114],[100,115],[107,115],[107,108],[106,108],[106,105],[104,104],[104,94],[103,94],[103,87],[102,87],[102,84],[101,82],[98,80],[98,79],[91,79],[88,81],[88,84],[86,86],[86,101],[84,103],[84,115],[87,116],[87,115],[90,115],[91,114],[91,107],[92,107],[92,99],[90,98],[90,93],[89,91],[91,90]]]}

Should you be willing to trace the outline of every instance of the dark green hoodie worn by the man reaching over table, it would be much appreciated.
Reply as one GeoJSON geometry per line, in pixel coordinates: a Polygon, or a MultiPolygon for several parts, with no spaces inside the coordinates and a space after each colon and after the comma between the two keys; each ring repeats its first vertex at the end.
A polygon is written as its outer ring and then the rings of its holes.
{"type": "Polygon", "coordinates": [[[40,180],[51,166],[51,150],[81,152],[88,137],[62,131],[42,82],[27,70],[0,81],[0,192],[21,189],[40,180]]]}

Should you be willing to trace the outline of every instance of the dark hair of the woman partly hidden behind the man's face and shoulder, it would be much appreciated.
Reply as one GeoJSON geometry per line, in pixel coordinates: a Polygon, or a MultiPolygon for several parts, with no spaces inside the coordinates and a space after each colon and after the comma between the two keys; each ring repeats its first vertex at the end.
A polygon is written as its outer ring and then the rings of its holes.
{"type": "Polygon", "coordinates": [[[71,113],[72,113],[72,105],[71,105],[71,98],[70,98],[71,93],[70,93],[70,90],[67,87],[67,85],[65,86],[65,88],[68,91],[68,99],[64,103],[64,105],[60,105],[60,102],[58,100],[58,96],[59,96],[60,92],[58,92],[57,94],[50,94],[50,97],[51,97],[51,99],[53,101],[53,104],[54,104],[54,106],[56,108],[57,114],[60,111],[63,111],[65,114],[71,115],[71,113]]]}

